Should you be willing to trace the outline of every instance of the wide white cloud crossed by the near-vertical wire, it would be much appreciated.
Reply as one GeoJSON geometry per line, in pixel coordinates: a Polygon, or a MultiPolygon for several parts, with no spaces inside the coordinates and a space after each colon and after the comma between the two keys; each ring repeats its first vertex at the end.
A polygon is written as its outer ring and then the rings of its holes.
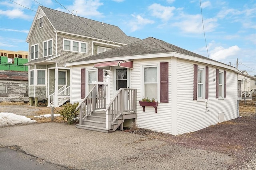
{"type": "Polygon", "coordinates": [[[181,15],[180,21],[172,23],[171,26],[179,27],[184,33],[212,32],[218,26],[216,18],[204,19],[204,30],[201,15],[181,15]]]}

